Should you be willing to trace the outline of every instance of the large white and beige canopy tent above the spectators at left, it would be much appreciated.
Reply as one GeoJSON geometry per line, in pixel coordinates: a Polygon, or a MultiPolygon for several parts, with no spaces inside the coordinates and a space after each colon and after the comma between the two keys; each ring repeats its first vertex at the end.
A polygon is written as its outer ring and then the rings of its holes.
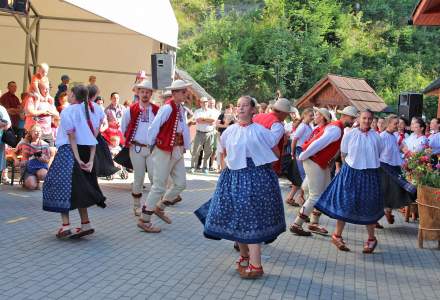
{"type": "Polygon", "coordinates": [[[63,74],[71,83],[97,77],[101,95],[132,98],[152,53],[175,53],[178,24],[169,0],[30,0],[28,16],[0,13],[0,89],[26,86],[37,63],[50,66],[54,95],[63,74]],[[24,79],[24,80],[23,80],[24,79]]]}

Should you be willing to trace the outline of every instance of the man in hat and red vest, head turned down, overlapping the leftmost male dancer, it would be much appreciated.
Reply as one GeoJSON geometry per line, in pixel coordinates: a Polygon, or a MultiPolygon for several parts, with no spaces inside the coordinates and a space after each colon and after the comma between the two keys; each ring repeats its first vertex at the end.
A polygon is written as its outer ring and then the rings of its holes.
{"type": "Polygon", "coordinates": [[[159,109],[149,129],[148,144],[154,148],[153,186],[146,204],[142,207],[142,215],[138,222],[138,227],[145,232],[160,232],[160,228],[151,223],[153,214],[165,223],[171,224],[171,219],[164,211],[165,204],[174,202],[186,187],[183,155],[190,148],[191,139],[182,104],[187,98],[189,86],[190,83],[176,80],[167,88],[171,90],[172,97],[159,109]],[[167,189],[168,178],[172,181],[169,189],[167,189]]]}

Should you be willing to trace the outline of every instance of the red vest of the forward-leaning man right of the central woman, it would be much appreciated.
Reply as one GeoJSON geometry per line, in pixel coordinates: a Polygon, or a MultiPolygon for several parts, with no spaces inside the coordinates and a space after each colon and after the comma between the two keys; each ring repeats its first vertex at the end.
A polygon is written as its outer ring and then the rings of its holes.
{"type": "MultiPolygon", "coordinates": [[[[338,126],[341,129],[341,136],[339,137],[338,140],[332,142],[327,147],[318,151],[318,153],[310,157],[312,161],[317,163],[323,169],[326,169],[329,166],[329,163],[332,160],[332,158],[335,157],[336,153],[338,153],[339,147],[341,146],[342,136],[344,135],[344,124],[341,121],[338,120],[331,122],[327,124],[325,127],[327,126],[338,126]]],[[[307,142],[305,142],[302,145],[303,151],[305,151],[310,146],[311,143],[319,139],[324,134],[325,127],[323,127],[311,139],[309,139],[307,142]]]]}

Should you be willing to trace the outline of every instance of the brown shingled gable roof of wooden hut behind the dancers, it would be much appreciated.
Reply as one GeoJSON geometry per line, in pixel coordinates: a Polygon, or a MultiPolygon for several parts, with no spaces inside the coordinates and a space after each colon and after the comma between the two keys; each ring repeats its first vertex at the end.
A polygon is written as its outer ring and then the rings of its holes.
{"type": "Polygon", "coordinates": [[[328,74],[296,101],[298,108],[312,106],[339,108],[352,105],[358,110],[381,112],[385,102],[364,79],[328,74]]]}

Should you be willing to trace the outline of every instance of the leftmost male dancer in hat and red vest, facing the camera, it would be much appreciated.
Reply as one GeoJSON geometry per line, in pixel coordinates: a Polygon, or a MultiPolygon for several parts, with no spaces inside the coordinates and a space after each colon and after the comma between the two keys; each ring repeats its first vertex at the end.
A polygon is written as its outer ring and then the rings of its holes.
{"type": "Polygon", "coordinates": [[[135,87],[139,101],[132,104],[130,109],[124,112],[121,131],[125,136],[125,147],[130,149],[130,160],[134,170],[133,212],[135,216],[140,216],[145,167],[148,170],[150,183],[153,182],[153,160],[147,138],[150,134],[149,127],[159,107],[150,102],[153,95],[153,86],[150,81],[144,80],[136,84],[135,87]]]}

